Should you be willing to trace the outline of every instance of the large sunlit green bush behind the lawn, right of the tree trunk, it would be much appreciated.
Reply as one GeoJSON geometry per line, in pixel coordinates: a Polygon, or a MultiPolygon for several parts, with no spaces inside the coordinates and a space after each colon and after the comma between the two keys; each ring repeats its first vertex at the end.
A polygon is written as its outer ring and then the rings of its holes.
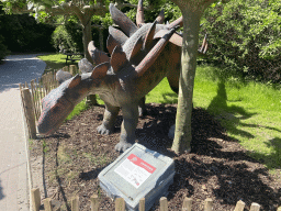
{"type": "Polygon", "coordinates": [[[281,81],[279,0],[216,3],[206,10],[202,23],[202,32],[209,34],[209,60],[243,76],[281,81]]]}

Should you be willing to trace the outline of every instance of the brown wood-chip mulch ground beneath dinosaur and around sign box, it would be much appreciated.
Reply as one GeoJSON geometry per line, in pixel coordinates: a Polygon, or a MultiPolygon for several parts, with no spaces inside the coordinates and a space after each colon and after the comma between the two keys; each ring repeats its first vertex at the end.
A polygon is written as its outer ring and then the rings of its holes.
{"type": "MultiPolygon", "coordinates": [[[[192,151],[176,155],[169,148],[169,127],[175,124],[176,104],[147,104],[147,114],[139,118],[136,135],[138,143],[175,159],[176,176],[169,187],[169,210],[181,210],[186,197],[193,199],[192,208],[203,210],[204,200],[214,201],[214,210],[234,210],[243,200],[245,210],[252,202],[261,210],[276,211],[281,206],[281,182],[257,162],[236,140],[226,135],[220,123],[201,108],[192,113],[192,151]]],[[[102,123],[103,107],[91,107],[80,115],[65,122],[52,136],[34,141],[31,158],[43,157],[43,198],[52,198],[70,210],[70,199],[79,196],[80,210],[90,210],[90,197],[100,197],[100,210],[114,210],[114,203],[99,186],[98,175],[119,157],[114,151],[119,143],[122,113],[115,131],[100,135],[95,131],[102,123]]],[[[159,210],[156,204],[151,210],[159,210]]]]}

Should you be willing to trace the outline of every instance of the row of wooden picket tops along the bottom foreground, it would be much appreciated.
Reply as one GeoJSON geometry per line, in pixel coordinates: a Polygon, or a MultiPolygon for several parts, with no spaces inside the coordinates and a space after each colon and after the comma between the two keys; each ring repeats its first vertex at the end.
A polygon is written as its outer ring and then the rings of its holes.
{"type": "MultiPolygon", "coordinates": [[[[41,195],[40,189],[32,189],[31,190],[31,198],[32,198],[32,208],[33,211],[40,211],[41,208],[41,195]]],[[[116,198],[115,200],[115,211],[125,211],[125,201],[122,198],[116,198]]],[[[58,211],[60,210],[60,206],[57,203],[55,204],[52,199],[46,198],[43,200],[44,210],[45,211],[58,211]]],[[[91,211],[99,210],[99,198],[97,195],[93,195],[90,198],[91,211]]],[[[70,201],[71,211],[79,211],[79,197],[76,196],[70,201]]],[[[160,211],[168,211],[168,200],[166,197],[161,197],[159,200],[160,211]]],[[[238,201],[234,211],[244,211],[245,202],[238,201]]],[[[145,211],[145,198],[139,200],[139,211],[145,211]]],[[[192,211],[192,198],[184,198],[182,201],[182,211],[192,211]]],[[[213,200],[207,198],[204,201],[204,211],[212,211],[213,210],[213,200]]],[[[250,206],[250,211],[259,211],[260,206],[258,203],[252,202],[250,206]]],[[[281,211],[281,207],[277,209],[277,211],[281,211]]]]}

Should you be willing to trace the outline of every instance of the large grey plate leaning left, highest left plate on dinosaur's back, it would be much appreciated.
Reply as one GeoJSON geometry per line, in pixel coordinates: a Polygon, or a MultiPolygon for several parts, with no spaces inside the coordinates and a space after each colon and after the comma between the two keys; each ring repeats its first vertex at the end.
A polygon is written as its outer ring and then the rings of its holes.
{"type": "Polygon", "coordinates": [[[137,26],[123,12],[115,8],[113,3],[110,4],[110,13],[114,23],[117,24],[127,36],[132,36],[137,31],[137,26]]]}

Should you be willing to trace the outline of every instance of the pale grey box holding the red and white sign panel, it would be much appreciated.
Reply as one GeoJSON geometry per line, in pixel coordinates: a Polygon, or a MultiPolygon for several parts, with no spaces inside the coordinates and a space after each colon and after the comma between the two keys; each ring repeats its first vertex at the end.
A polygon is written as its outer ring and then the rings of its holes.
{"type": "Polygon", "coordinates": [[[135,143],[125,151],[115,162],[99,174],[101,188],[113,199],[123,198],[127,210],[138,210],[138,203],[145,198],[145,210],[149,210],[160,197],[168,195],[168,188],[173,182],[175,163],[170,157],[150,151],[135,143]],[[131,155],[139,157],[155,167],[155,171],[138,187],[135,188],[114,170],[131,155]]]}

